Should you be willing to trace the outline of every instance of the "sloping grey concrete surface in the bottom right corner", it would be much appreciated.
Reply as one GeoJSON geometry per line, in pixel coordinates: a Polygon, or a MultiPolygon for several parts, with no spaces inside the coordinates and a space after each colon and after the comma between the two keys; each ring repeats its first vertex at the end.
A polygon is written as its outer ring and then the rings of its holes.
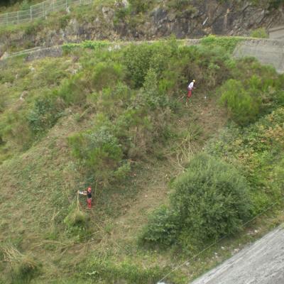
{"type": "Polygon", "coordinates": [[[192,284],[284,284],[284,230],[263,236],[192,284]]]}

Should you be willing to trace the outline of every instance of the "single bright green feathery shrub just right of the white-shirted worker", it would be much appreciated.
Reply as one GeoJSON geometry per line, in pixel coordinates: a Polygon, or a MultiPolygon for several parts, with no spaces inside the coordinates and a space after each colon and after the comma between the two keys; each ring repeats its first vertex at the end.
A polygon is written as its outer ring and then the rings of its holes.
{"type": "Polygon", "coordinates": [[[259,113],[261,99],[252,97],[244,84],[237,80],[229,80],[223,84],[220,99],[229,112],[229,116],[237,124],[246,125],[255,121],[259,113]]]}

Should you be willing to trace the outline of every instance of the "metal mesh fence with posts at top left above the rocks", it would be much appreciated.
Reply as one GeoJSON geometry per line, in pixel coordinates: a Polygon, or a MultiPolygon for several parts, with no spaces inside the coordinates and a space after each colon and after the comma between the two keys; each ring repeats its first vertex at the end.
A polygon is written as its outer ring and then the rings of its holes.
{"type": "Polygon", "coordinates": [[[80,4],[90,4],[92,0],[46,0],[40,4],[35,4],[25,11],[0,14],[0,26],[14,25],[18,23],[27,23],[36,18],[43,18],[48,13],[69,9],[70,6],[80,4]]]}

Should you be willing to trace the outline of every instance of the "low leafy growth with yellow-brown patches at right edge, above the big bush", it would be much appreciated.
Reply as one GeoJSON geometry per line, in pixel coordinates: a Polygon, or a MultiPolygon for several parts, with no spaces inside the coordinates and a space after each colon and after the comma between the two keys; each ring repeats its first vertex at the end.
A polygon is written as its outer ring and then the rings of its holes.
{"type": "Polygon", "coordinates": [[[284,111],[280,107],[246,129],[231,126],[207,143],[206,151],[241,167],[251,187],[253,214],[271,203],[283,204],[280,169],[284,151],[284,111]]]}

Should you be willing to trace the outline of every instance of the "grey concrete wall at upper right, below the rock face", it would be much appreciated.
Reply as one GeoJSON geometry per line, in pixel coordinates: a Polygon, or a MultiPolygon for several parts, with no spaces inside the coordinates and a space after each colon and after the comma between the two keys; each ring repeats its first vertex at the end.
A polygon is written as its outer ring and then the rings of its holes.
{"type": "Polygon", "coordinates": [[[277,72],[284,72],[284,40],[244,40],[234,50],[236,58],[251,56],[265,65],[272,65],[277,72]]]}

